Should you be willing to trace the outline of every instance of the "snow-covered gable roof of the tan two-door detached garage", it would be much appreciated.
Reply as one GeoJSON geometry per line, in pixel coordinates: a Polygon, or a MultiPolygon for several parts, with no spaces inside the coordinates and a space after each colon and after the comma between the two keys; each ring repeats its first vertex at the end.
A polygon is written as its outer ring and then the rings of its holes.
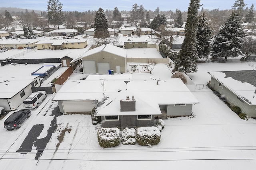
{"type": "Polygon", "coordinates": [[[100,47],[96,47],[94,49],[91,49],[91,50],[87,51],[81,57],[72,60],[71,63],[73,63],[75,61],[78,61],[78,60],[80,60],[80,59],[82,59],[84,57],[87,57],[87,56],[93,55],[95,53],[101,52],[101,51],[105,51],[107,53],[118,55],[120,57],[126,57],[126,49],[122,49],[122,48],[116,47],[114,45],[106,44],[106,45],[102,45],[100,47]]]}

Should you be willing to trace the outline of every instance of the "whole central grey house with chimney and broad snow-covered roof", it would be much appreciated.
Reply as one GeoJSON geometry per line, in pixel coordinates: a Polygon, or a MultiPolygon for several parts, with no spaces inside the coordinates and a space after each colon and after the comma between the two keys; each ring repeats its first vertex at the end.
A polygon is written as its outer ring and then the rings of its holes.
{"type": "Polygon", "coordinates": [[[191,115],[193,104],[199,103],[180,78],[143,81],[124,74],[105,76],[101,80],[68,80],[53,100],[62,112],[90,112],[97,106],[102,127],[121,128],[151,126],[156,116],[191,115]],[[115,76],[123,80],[111,79],[115,76]]]}

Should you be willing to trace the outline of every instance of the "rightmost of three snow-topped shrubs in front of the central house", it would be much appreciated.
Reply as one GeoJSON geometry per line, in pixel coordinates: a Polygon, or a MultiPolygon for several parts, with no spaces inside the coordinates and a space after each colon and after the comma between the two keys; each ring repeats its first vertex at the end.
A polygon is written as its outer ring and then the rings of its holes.
{"type": "Polygon", "coordinates": [[[136,142],[139,145],[151,146],[160,142],[160,131],[157,127],[138,127],[136,131],[136,142]]]}

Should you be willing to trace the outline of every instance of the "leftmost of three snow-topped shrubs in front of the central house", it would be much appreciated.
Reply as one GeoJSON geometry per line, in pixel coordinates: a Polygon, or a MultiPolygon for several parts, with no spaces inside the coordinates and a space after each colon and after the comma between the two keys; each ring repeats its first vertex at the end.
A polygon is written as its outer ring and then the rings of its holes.
{"type": "Polygon", "coordinates": [[[98,130],[98,142],[102,148],[116,147],[120,144],[120,130],[116,127],[98,130]]]}

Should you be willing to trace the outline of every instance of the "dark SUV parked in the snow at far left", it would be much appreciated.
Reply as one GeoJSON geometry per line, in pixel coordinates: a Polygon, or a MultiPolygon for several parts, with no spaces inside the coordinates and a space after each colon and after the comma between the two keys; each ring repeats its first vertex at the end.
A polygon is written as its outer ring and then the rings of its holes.
{"type": "Polygon", "coordinates": [[[21,123],[26,120],[26,118],[30,117],[29,109],[21,109],[12,113],[5,121],[4,128],[5,129],[16,129],[21,127],[21,123]]]}

